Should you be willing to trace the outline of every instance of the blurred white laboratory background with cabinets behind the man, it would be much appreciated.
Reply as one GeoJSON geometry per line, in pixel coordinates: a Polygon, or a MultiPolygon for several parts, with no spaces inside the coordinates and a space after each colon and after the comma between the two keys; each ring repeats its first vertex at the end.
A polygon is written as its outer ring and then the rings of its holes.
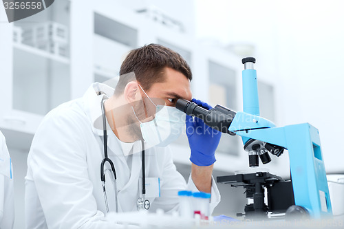
{"type": "MultiPolygon", "coordinates": [[[[0,7],[0,129],[14,166],[15,228],[23,228],[26,158],[43,116],[118,76],[129,50],[160,43],[193,69],[193,97],[242,110],[241,58],[254,56],[261,116],[319,129],[327,173],[344,173],[344,3],[273,0],[58,0],[8,23],[0,7]]],[[[186,135],[172,146],[189,179],[186,135]]],[[[241,138],[222,135],[214,177],[248,169],[241,138]]],[[[288,152],[261,166],[289,177],[288,152]]],[[[244,189],[219,184],[213,215],[243,212],[244,189]]]]}

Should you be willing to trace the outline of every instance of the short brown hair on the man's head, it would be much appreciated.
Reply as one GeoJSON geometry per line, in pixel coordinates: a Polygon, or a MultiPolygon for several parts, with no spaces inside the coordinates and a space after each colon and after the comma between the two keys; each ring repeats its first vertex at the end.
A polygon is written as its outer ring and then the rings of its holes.
{"type": "Polygon", "coordinates": [[[120,66],[120,79],[115,95],[122,94],[127,83],[133,80],[138,80],[144,90],[148,91],[153,83],[164,82],[165,67],[171,67],[184,74],[190,81],[193,78],[191,69],[184,58],[167,47],[149,44],[131,50],[120,66]],[[129,74],[131,72],[134,72],[135,77],[129,74]]]}

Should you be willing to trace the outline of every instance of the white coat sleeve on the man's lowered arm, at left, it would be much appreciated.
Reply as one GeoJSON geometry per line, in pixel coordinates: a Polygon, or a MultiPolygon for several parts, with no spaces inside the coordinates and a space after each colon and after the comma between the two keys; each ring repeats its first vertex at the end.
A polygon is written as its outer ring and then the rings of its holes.
{"type": "Polygon", "coordinates": [[[30,149],[28,166],[47,228],[118,228],[97,209],[83,138],[87,125],[78,116],[45,118],[30,149]]]}

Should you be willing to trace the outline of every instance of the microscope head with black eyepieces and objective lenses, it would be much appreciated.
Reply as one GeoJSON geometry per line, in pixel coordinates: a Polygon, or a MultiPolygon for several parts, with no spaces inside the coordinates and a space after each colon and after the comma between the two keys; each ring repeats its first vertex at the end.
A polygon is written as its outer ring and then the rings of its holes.
{"type": "Polygon", "coordinates": [[[257,138],[250,138],[248,133],[257,133],[264,129],[271,129],[275,124],[269,120],[246,112],[235,112],[231,109],[216,105],[213,109],[204,109],[203,107],[184,99],[179,99],[175,105],[177,109],[189,116],[195,116],[204,120],[204,123],[213,129],[230,135],[241,135],[244,149],[248,152],[249,165],[258,166],[260,157],[263,164],[271,161],[268,152],[277,155],[283,153],[284,145],[279,146],[270,141],[260,140],[261,136],[256,134],[257,138]],[[244,136],[245,135],[245,136],[244,136]]]}

